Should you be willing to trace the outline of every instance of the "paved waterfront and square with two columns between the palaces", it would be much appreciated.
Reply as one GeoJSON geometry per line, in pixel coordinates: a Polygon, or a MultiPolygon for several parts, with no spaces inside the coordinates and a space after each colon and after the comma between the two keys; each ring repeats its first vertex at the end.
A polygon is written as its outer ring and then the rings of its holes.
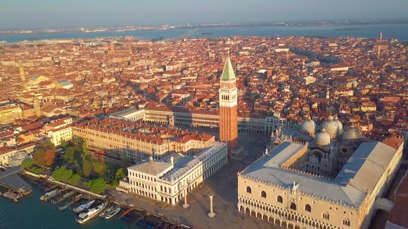
{"type": "Polygon", "coordinates": [[[138,210],[145,210],[168,221],[183,223],[193,228],[277,228],[270,222],[238,212],[237,177],[232,175],[243,168],[241,161],[230,161],[207,182],[187,195],[187,203],[190,205],[187,209],[182,207],[183,201],[176,206],[169,206],[138,195],[127,195],[118,191],[112,191],[110,194],[115,197],[117,203],[134,206],[138,210]],[[210,190],[214,192],[214,218],[207,217],[210,212],[210,190]]]}

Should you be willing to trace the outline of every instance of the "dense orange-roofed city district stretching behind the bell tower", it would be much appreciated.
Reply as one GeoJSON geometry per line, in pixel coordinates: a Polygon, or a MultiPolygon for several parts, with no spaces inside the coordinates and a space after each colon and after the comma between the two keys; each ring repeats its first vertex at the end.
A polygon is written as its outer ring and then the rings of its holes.
{"type": "MultiPolygon", "coordinates": [[[[47,117],[89,118],[124,108],[164,106],[174,112],[183,108],[197,119],[183,121],[176,114],[176,125],[216,128],[210,115],[219,113],[219,77],[227,50],[237,75],[239,130],[272,132],[276,125],[271,119],[300,123],[305,115],[319,121],[331,113],[372,135],[407,127],[407,48],[396,40],[232,37],[151,42],[127,37],[6,46],[0,80],[8,83],[2,84],[0,96],[14,104],[7,112],[20,114],[12,121],[36,116],[37,98],[41,115],[47,117]],[[152,101],[155,105],[147,106],[152,101]]],[[[147,115],[169,123],[166,116],[147,115]]]]}

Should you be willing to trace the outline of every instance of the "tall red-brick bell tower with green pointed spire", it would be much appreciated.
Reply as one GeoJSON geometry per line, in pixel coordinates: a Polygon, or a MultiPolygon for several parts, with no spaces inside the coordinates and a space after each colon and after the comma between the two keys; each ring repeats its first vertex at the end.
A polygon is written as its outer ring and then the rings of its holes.
{"type": "Polygon", "coordinates": [[[237,146],[238,112],[237,112],[237,81],[228,54],[225,59],[223,74],[221,74],[219,92],[219,138],[227,143],[228,155],[237,146]]]}

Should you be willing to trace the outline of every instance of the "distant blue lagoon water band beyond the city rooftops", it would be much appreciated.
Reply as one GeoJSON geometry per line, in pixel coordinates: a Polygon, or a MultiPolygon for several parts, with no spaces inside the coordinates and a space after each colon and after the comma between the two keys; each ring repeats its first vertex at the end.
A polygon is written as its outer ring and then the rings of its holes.
{"type": "MultiPolygon", "coordinates": [[[[124,32],[60,32],[31,34],[0,34],[0,41],[19,42],[31,39],[91,39],[95,37],[133,36],[136,39],[164,37],[172,39],[189,32],[188,28],[169,30],[142,30],[124,32]]],[[[255,26],[228,28],[200,28],[189,37],[230,37],[230,36],[323,36],[323,37],[365,37],[377,38],[382,32],[386,39],[408,41],[408,24],[356,25],[356,26],[255,26]]]]}

